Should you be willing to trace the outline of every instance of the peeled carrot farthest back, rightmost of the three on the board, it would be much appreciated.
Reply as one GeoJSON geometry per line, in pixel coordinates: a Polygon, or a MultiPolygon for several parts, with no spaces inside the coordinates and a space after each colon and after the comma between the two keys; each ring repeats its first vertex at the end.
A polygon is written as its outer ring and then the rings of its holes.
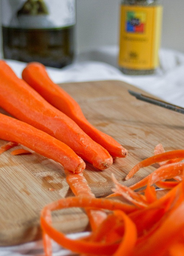
{"type": "Polygon", "coordinates": [[[73,119],[94,141],[114,157],[126,157],[127,150],[111,136],[99,131],[85,118],[79,104],[49,78],[46,68],[38,62],[28,63],[22,72],[23,79],[54,107],[73,119]]]}

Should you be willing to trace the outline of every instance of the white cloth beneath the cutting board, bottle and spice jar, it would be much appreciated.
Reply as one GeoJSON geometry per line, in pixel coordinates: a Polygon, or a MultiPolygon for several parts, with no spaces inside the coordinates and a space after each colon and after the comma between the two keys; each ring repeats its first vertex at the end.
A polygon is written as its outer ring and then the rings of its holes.
{"type": "MultiPolygon", "coordinates": [[[[128,76],[117,67],[118,49],[107,46],[80,54],[74,63],[62,69],[47,68],[56,83],[120,80],[158,96],[172,104],[184,107],[184,53],[160,50],[160,68],[154,75],[128,76]]],[[[6,60],[21,77],[25,63],[6,60]]],[[[54,256],[68,255],[55,243],[54,256]]],[[[18,246],[0,247],[0,256],[43,255],[42,241],[18,246]]]]}

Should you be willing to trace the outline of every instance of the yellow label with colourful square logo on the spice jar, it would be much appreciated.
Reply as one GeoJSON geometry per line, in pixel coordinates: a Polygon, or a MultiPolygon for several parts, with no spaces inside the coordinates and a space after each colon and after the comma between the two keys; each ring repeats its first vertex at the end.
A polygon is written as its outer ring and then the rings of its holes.
{"type": "Polygon", "coordinates": [[[119,66],[135,70],[157,68],[162,7],[121,6],[119,66]]]}

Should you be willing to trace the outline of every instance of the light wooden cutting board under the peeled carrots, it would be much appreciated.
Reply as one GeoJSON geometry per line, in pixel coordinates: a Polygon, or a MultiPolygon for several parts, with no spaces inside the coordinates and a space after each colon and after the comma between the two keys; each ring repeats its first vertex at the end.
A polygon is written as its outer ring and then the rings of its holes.
{"type": "MultiPolygon", "coordinates": [[[[80,103],[93,125],[114,137],[129,151],[126,158],[115,159],[112,167],[104,171],[97,171],[87,164],[84,175],[96,196],[111,193],[111,173],[127,186],[150,173],[153,167],[141,169],[125,181],[129,170],[152,156],[158,143],[162,143],[165,150],[184,148],[184,116],[137,100],[128,93],[128,89],[141,90],[121,81],[61,86],[80,103]]],[[[4,113],[2,109],[0,111],[4,113]]],[[[5,143],[0,140],[0,146],[5,143]]],[[[40,210],[54,200],[72,195],[59,163],[34,152],[12,156],[11,150],[0,155],[0,246],[39,239],[40,210]]],[[[65,232],[85,230],[88,224],[80,209],[58,212],[55,222],[65,232]]]]}

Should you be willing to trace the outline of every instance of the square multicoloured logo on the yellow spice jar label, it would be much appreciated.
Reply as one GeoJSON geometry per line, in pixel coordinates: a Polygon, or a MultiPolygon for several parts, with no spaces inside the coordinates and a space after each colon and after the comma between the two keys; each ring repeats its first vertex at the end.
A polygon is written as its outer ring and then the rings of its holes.
{"type": "Polygon", "coordinates": [[[146,14],[144,12],[127,11],[126,31],[131,33],[144,33],[146,14]]]}

